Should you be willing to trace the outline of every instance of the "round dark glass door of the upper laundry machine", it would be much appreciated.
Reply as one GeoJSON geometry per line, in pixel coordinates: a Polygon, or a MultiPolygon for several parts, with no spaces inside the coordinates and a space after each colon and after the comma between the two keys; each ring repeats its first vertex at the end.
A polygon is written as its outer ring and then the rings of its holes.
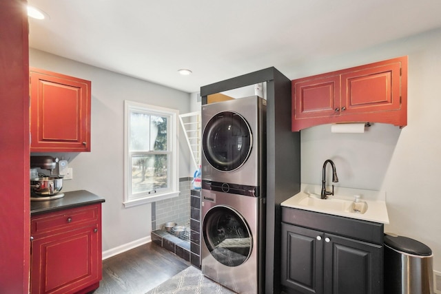
{"type": "Polygon", "coordinates": [[[233,171],[242,166],[252,149],[252,132],[236,112],[220,112],[212,117],[203,132],[205,158],[220,171],[233,171]]]}

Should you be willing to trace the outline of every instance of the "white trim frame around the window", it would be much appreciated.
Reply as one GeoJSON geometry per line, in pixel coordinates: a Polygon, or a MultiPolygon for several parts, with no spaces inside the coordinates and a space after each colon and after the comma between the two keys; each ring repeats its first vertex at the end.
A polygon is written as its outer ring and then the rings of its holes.
{"type": "Polygon", "coordinates": [[[156,105],[148,105],[145,103],[138,103],[134,101],[124,101],[124,207],[134,207],[141,204],[156,202],[158,200],[164,200],[168,198],[174,198],[179,196],[179,132],[178,132],[178,115],[179,111],[176,109],[160,107],[156,105]],[[152,195],[146,195],[143,197],[131,198],[130,195],[130,183],[132,182],[132,178],[130,176],[130,166],[131,160],[129,158],[129,134],[130,134],[130,110],[139,109],[141,111],[152,111],[159,112],[161,114],[165,114],[172,118],[172,122],[170,123],[170,132],[172,132],[171,136],[174,138],[172,140],[172,162],[170,171],[170,188],[171,191],[165,191],[163,193],[155,193],[152,195]]]}

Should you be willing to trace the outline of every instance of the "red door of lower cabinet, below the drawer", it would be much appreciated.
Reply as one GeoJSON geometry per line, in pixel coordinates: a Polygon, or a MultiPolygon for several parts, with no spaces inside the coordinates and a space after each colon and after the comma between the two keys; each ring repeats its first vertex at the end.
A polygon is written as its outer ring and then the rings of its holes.
{"type": "Polygon", "coordinates": [[[101,280],[97,226],[32,242],[31,293],[75,293],[101,280]]]}

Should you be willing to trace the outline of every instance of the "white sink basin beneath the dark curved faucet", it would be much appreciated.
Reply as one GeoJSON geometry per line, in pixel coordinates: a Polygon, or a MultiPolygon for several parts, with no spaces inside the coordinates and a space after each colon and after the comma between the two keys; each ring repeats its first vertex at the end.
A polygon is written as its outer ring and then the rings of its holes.
{"type": "Polygon", "coordinates": [[[343,200],[329,196],[327,199],[321,199],[320,195],[309,194],[306,198],[303,198],[298,202],[299,206],[314,207],[316,209],[325,209],[331,211],[344,211],[349,213],[365,213],[367,211],[367,203],[364,201],[358,202],[358,211],[353,211],[353,201],[343,200]]]}

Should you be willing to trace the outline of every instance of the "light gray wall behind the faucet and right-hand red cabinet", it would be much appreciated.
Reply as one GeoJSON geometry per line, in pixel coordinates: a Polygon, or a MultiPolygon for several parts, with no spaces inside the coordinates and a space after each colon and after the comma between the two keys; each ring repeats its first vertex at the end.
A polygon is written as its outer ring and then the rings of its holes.
{"type": "Polygon", "coordinates": [[[374,124],[365,134],[331,134],[330,125],[300,131],[302,182],[320,185],[327,158],[336,163],[336,186],[386,192],[385,231],[420,240],[441,271],[441,30],[375,48],[299,65],[300,78],[409,56],[408,125],[374,124]]]}

